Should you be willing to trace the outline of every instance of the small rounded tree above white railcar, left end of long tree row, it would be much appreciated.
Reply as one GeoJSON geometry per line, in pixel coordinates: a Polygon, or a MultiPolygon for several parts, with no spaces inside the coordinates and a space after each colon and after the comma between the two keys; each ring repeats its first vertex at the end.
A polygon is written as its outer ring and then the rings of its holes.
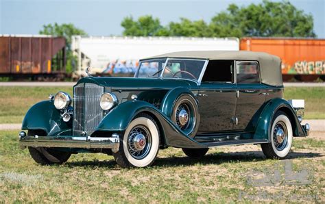
{"type": "Polygon", "coordinates": [[[125,17],[121,26],[124,28],[124,36],[169,36],[159,19],[150,15],[141,16],[137,21],[132,16],[125,17]]]}

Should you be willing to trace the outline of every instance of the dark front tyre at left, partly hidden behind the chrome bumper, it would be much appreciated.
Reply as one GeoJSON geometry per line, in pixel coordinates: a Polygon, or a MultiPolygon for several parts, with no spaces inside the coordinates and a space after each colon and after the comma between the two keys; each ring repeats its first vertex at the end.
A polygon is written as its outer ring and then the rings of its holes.
{"type": "MultiPolygon", "coordinates": [[[[28,136],[35,136],[36,131],[28,131],[28,136]]],[[[71,156],[71,153],[65,151],[59,151],[53,148],[45,147],[28,147],[29,154],[32,156],[33,160],[42,165],[50,164],[62,164],[67,162],[71,156]]]]}

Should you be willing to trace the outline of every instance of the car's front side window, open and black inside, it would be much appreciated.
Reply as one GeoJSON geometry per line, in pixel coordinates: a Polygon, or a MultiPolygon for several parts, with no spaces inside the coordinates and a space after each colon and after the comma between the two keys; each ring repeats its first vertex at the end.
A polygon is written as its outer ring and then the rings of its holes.
{"type": "Polygon", "coordinates": [[[202,82],[232,82],[233,60],[210,60],[202,82]]]}

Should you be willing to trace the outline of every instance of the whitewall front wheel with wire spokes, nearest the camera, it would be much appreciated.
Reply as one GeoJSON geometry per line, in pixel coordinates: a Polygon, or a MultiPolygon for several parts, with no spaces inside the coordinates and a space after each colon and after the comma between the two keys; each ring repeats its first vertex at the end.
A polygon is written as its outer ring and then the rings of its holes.
{"type": "Polygon", "coordinates": [[[155,120],[147,114],[139,114],[121,136],[119,151],[112,155],[122,168],[149,166],[156,159],[159,141],[155,120]]]}

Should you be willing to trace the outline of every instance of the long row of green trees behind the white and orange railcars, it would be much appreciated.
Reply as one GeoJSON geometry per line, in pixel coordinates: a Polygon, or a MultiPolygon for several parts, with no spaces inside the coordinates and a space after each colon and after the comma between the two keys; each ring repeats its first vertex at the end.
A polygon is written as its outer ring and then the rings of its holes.
{"type": "Polygon", "coordinates": [[[126,17],[121,25],[125,36],[316,36],[313,17],[298,10],[289,1],[264,0],[243,7],[232,3],[226,11],[213,16],[210,23],[180,18],[180,22],[171,22],[164,27],[158,18],[142,16],[137,21],[126,17]]]}

